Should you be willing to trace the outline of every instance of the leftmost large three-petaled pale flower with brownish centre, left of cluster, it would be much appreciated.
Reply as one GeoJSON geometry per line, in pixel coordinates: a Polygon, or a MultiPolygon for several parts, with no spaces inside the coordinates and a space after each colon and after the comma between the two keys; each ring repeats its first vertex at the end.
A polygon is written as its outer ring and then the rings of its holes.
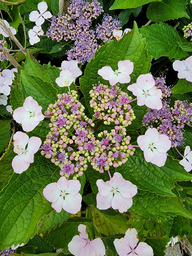
{"type": "Polygon", "coordinates": [[[34,154],[41,146],[41,139],[38,137],[31,137],[26,133],[17,131],[14,136],[14,153],[18,154],[12,161],[12,167],[15,173],[22,173],[29,168],[30,163],[34,162],[34,154]],[[27,149],[26,145],[28,143],[27,149]]]}

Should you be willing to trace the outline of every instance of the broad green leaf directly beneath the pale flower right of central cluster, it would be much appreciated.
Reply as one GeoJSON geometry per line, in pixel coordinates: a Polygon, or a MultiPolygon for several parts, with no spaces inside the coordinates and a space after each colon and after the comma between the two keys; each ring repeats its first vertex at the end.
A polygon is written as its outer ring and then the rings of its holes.
{"type": "Polygon", "coordinates": [[[158,167],[146,162],[141,150],[137,150],[133,156],[122,166],[117,168],[125,180],[132,182],[139,189],[149,190],[163,196],[173,196],[171,189],[175,187],[175,181],[192,180],[187,173],[171,156],[167,157],[165,165],[158,167]]]}

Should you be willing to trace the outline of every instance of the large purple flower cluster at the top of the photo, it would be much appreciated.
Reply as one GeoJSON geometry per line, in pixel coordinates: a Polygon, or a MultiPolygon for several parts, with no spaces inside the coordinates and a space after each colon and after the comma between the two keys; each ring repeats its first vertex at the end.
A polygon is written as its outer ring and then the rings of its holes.
{"type": "Polygon", "coordinates": [[[102,6],[97,0],[91,4],[88,1],[72,0],[68,7],[68,14],[52,17],[52,23],[47,36],[60,42],[74,41],[73,47],[67,52],[68,60],[75,59],[80,64],[94,58],[95,51],[100,45],[96,39],[110,41],[114,29],[120,29],[121,22],[116,18],[105,15],[102,25],[97,26],[96,32],[91,29],[93,19],[102,12],[102,6]]]}

